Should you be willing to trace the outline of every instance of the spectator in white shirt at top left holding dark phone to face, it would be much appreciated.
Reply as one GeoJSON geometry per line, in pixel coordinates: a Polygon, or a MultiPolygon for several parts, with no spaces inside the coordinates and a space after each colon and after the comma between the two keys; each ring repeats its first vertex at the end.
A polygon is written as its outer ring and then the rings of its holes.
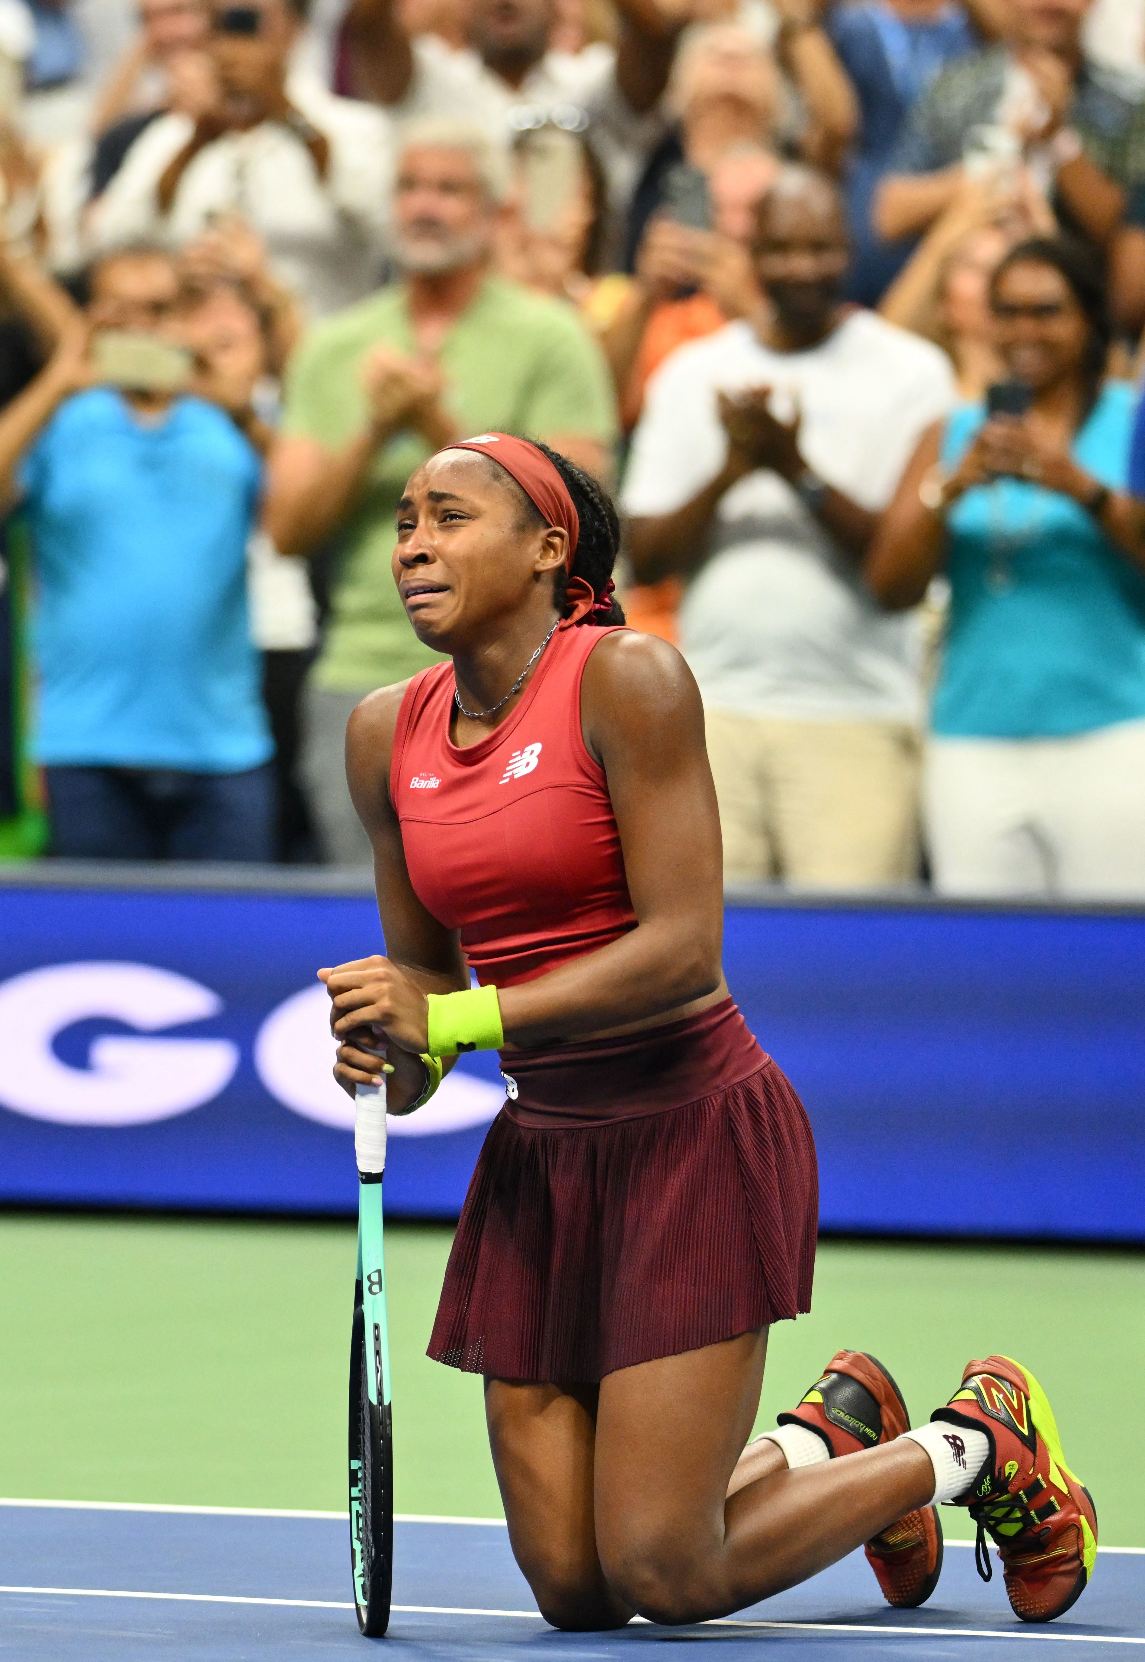
{"type": "Polygon", "coordinates": [[[211,8],[211,98],[136,138],[91,211],[98,246],[179,248],[234,216],[312,314],[372,289],[387,248],[389,121],[309,81],[287,85],[301,22],[291,0],[211,8]]]}

